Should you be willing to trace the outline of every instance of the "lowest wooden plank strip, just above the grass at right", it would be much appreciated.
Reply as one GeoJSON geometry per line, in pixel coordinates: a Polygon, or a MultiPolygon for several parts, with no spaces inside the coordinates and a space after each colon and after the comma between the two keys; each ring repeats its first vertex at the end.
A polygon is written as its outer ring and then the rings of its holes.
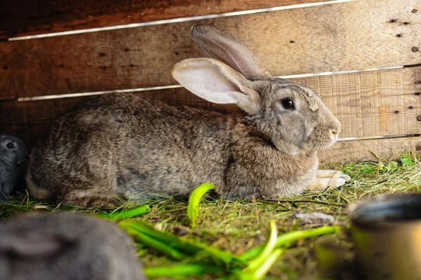
{"type": "Polygon", "coordinates": [[[403,153],[421,155],[421,137],[338,142],[320,151],[320,164],[378,161],[399,158],[403,153]]]}

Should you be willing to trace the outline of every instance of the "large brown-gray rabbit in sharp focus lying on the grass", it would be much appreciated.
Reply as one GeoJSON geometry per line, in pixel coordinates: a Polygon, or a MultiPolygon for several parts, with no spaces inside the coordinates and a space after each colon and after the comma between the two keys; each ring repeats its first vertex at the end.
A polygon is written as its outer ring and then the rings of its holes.
{"type": "Polygon", "coordinates": [[[284,197],[341,186],[317,170],[317,151],[340,123],[305,85],[274,78],[221,29],[196,25],[210,58],[185,59],[173,77],[197,96],[236,104],[246,116],[176,109],[137,94],[105,94],[67,114],[33,151],[27,174],[38,199],[84,207],[116,195],[187,195],[204,182],[225,199],[284,197]]]}

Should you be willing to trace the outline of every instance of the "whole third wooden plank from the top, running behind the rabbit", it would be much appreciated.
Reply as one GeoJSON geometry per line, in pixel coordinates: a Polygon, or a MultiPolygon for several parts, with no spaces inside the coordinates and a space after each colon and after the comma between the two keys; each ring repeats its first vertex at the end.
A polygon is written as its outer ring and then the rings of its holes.
{"type": "MultiPolygon", "coordinates": [[[[340,137],[373,137],[421,132],[421,67],[295,79],[312,87],[342,123],[340,137]]],[[[240,113],[234,105],[211,104],[184,88],[139,92],[174,106],[240,113]]],[[[1,130],[34,143],[53,120],[83,98],[0,102],[1,130]]]]}

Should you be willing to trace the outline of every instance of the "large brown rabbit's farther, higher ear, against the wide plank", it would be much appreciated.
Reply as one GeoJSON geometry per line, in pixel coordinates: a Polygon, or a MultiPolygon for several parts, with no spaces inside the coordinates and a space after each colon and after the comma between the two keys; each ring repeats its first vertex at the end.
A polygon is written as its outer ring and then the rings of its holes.
{"type": "Polygon", "coordinates": [[[194,25],[193,41],[210,57],[220,60],[246,78],[271,77],[258,57],[228,32],[210,25],[194,25]]]}

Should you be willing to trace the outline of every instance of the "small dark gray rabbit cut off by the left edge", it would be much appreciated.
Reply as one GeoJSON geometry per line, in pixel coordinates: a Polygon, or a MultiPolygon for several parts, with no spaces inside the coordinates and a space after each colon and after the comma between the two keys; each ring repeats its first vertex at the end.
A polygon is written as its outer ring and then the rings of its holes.
{"type": "Polygon", "coordinates": [[[24,182],[28,151],[23,142],[10,134],[0,134],[0,203],[24,182]]]}

